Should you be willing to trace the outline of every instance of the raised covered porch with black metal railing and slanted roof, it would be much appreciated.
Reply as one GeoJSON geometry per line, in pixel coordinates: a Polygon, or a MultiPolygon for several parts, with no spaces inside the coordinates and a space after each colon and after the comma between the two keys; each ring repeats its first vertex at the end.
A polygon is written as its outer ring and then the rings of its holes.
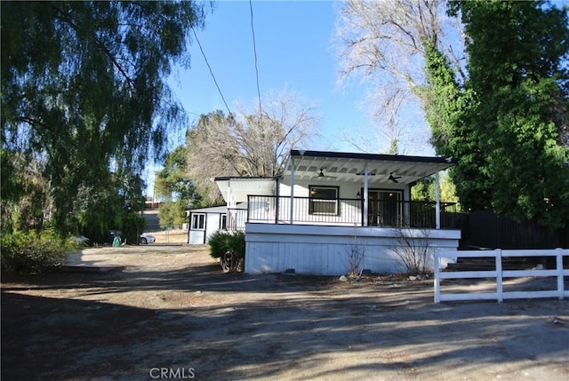
{"type": "Polygon", "coordinates": [[[454,163],[443,157],[293,150],[275,179],[275,193],[247,194],[247,222],[453,228],[457,205],[440,199],[438,174],[454,163]],[[435,200],[411,201],[413,185],[432,174],[435,200]]]}

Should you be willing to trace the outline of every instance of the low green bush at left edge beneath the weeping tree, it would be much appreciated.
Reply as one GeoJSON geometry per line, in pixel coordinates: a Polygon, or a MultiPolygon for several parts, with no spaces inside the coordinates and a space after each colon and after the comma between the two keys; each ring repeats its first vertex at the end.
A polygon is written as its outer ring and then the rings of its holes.
{"type": "Polygon", "coordinates": [[[6,273],[16,274],[52,271],[75,247],[52,230],[2,234],[2,268],[6,273]]]}

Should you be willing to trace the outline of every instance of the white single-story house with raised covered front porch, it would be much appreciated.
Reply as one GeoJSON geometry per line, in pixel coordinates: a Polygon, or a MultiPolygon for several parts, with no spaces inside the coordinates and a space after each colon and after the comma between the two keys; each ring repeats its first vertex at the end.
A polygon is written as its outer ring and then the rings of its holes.
{"type": "MultiPolygon", "coordinates": [[[[393,249],[401,245],[402,229],[433,250],[458,247],[460,230],[445,228],[445,210],[453,203],[438,199],[438,172],[454,163],[442,157],[292,150],[274,179],[215,181],[227,202],[226,227],[245,231],[246,273],[346,274],[353,248],[365,253],[362,269],[389,273],[400,270],[393,249]],[[413,184],[433,173],[437,201],[412,202],[413,184]]],[[[194,226],[216,226],[207,215],[201,225],[199,217],[191,218],[198,222],[190,220],[190,236],[194,226]]]]}

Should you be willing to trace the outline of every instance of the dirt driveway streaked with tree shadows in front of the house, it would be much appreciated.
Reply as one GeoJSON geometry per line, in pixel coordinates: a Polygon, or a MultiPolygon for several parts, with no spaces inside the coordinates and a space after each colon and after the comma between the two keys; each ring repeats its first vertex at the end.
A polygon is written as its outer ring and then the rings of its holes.
{"type": "Polygon", "coordinates": [[[433,303],[432,282],[222,274],[204,246],[2,280],[2,380],[569,380],[569,301],[433,303]]]}

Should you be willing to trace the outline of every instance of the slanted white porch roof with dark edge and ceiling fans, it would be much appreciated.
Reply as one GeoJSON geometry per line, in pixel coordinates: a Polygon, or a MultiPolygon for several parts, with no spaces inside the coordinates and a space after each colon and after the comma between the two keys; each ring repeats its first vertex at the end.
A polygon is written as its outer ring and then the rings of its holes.
{"type": "Polygon", "coordinates": [[[444,171],[458,161],[454,158],[376,155],[346,152],[291,150],[284,166],[283,177],[290,179],[294,165],[294,179],[330,179],[341,182],[362,182],[367,167],[370,184],[411,184],[437,171],[444,171]],[[322,175],[321,175],[322,173],[322,175]]]}

